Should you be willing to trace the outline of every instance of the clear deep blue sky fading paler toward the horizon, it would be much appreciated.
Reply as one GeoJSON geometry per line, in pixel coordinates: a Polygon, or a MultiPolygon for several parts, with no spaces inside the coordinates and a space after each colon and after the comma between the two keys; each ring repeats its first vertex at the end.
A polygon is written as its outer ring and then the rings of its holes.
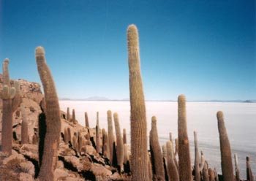
{"type": "Polygon", "coordinates": [[[256,99],[255,1],[0,0],[0,60],[39,82],[45,47],[59,98],[129,98],[127,26],[146,99],[256,99]]]}

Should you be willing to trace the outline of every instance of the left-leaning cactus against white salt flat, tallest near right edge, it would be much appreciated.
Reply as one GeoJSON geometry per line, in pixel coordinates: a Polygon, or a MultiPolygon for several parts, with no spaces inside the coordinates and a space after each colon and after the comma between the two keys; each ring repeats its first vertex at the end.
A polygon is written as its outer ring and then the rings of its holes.
{"type": "Polygon", "coordinates": [[[223,180],[233,181],[233,165],[230,142],[228,140],[227,131],[225,128],[225,122],[223,118],[223,112],[217,112],[218,119],[218,129],[219,129],[219,144],[221,153],[221,163],[222,163],[222,176],[223,180]]]}

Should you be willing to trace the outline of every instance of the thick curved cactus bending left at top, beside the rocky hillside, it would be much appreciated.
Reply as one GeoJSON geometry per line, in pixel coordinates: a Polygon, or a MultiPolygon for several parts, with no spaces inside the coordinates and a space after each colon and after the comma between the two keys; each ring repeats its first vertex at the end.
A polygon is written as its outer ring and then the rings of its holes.
{"type": "Polygon", "coordinates": [[[56,169],[59,148],[59,137],[61,134],[61,118],[59,100],[53,77],[45,61],[45,50],[43,47],[36,49],[37,69],[45,93],[45,117],[47,131],[45,134],[45,146],[42,155],[42,165],[39,170],[39,180],[53,180],[53,172],[56,169]]]}

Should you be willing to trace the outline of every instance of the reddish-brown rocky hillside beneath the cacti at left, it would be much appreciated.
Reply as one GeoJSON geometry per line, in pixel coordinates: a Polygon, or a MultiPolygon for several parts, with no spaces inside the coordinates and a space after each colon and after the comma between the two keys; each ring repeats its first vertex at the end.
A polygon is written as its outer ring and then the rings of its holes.
{"type": "MultiPolygon", "coordinates": [[[[22,115],[20,108],[13,114],[13,150],[8,156],[0,151],[0,180],[34,180],[39,172],[38,137],[34,136],[38,130],[38,115],[42,112],[39,103],[42,100],[40,85],[36,82],[18,80],[20,92],[25,107],[26,118],[29,123],[29,143],[20,144],[22,115]],[[37,137],[37,139],[34,139],[37,137]]],[[[13,81],[11,82],[13,83],[13,81]]],[[[2,75],[0,74],[0,90],[2,75]]],[[[0,100],[0,109],[2,102],[0,100]]],[[[0,112],[1,122],[1,112],[0,112]]],[[[54,172],[55,180],[130,180],[127,174],[118,174],[104,155],[100,155],[94,148],[95,128],[85,128],[78,121],[67,120],[66,112],[61,112],[61,142],[59,145],[59,161],[54,172]],[[71,135],[83,136],[84,142],[81,151],[73,142],[64,142],[64,129],[69,128],[71,135]],[[86,141],[86,135],[89,139],[86,141]],[[74,146],[73,146],[74,145],[74,146]]],[[[1,123],[0,123],[1,145],[1,123]]]]}

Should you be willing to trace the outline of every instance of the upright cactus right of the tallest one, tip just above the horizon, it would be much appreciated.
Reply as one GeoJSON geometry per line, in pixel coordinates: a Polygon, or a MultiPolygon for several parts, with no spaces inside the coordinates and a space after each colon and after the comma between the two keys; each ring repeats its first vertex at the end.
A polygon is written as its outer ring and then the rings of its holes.
{"type": "Polygon", "coordinates": [[[184,95],[178,96],[178,174],[181,180],[192,180],[184,95]]]}

